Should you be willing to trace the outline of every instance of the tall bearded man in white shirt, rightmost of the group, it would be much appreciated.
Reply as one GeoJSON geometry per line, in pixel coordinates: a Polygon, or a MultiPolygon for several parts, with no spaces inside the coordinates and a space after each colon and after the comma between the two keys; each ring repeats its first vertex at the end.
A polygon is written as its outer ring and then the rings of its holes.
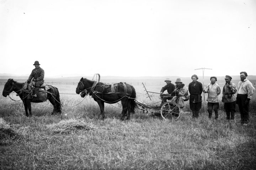
{"type": "Polygon", "coordinates": [[[254,94],[255,88],[252,83],[246,78],[247,73],[240,73],[240,81],[237,88],[236,104],[238,104],[241,125],[247,126],[249,123],[249,102],[254,94]]]}

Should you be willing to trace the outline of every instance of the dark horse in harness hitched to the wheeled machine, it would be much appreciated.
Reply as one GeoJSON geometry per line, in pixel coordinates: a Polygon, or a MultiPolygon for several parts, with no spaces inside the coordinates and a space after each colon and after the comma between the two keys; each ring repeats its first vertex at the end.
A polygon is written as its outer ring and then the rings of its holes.
{"type": "Polygon", "coordinates": [[[104,84],[97,81],[88,80],[86,78],[81,78],[78,86],[76,87],[76,94],[80,94],[81,97],[89,94],[94,98],[94,100],[100,106],[101,114],[103,119],[105,119],[104,102],[105,103],[117,103],[121,101],[123,106],[122,117],[127,114],[127,120],[130,118],[130,113],[134,113],[137,104],[134,99],[136,98],[136,92],[132,85],[126,83],[116,83],[116,84],[104,84]]]}

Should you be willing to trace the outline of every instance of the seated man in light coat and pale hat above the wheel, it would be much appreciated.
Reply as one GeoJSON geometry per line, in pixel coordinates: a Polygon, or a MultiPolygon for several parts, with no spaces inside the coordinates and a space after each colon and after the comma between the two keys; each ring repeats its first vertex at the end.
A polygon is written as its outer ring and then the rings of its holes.
{"type": "Polygon", "coordinates": [[[175,81],[176,89],[174,90],[175,96],[171,99],[171,102],[177,103],[180,108],[184,107],[184,100],[188,96],[188,90],[185,84],[182,83],[180,78],[175,81]]]}

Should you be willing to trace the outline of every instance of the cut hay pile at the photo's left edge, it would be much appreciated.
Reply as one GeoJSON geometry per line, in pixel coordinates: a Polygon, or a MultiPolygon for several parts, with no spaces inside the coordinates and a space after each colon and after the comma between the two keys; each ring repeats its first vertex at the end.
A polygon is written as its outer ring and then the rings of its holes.
{"type": "Polygon", "coordinates": [[[18,134],[16,129],[12,128],[4,119],[0,118],[0,145],[10,144],[21,138],[23,136],[18,134]]]}

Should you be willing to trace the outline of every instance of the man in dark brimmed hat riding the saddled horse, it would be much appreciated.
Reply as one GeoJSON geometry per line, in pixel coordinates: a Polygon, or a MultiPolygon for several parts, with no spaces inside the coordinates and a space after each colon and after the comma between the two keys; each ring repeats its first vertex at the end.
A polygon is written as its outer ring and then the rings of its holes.
{"type": "Polygon", "coordinates": [[[35,90],[34,90],[34,94],[32,94],[33,97],[37,97],[38,96],[38,92],[39,92],[39,87],[44,83],[44,70],[39,67],[39,62],[35,61],[34,64],[35,68],[32,70],[30,76],[28,77],[28,82],[30,82],[30,80],[35,81],[35,90]]]}

